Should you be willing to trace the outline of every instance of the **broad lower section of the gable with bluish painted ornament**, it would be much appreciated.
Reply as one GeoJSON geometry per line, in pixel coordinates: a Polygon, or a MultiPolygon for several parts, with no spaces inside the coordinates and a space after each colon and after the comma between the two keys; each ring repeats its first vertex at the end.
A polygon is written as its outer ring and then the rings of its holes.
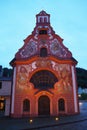
{"type": "Polygon", "coordinates": [[[40,56],[41,48],[46,48],[48,55],[59,59],[69,59],[72,57],[71,52],[59,42],[58,38],[52,40],[44,38],[34,40],[32,38],[18,51],[16,59],[28,59],[33,56],[40,56]]]}

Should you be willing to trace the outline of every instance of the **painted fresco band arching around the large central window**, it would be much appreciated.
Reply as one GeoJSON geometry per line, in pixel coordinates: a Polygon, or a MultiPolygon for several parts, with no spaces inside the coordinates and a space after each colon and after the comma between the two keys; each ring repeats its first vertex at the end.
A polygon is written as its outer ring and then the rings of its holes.
{"type": "MultiPolygon", "coordinates": [[[[34,86],[29,82],[29,74],[38,68],[48,67],[52,69],[58,75],[58,82],[55,83],[54,88],[57,92],[65,93],[72,91],[72,76],[70,65],[58,64],[54,61],[40,58],[37,61],[32,62],[29,65],[18,66],[17,72],[17,89],[19,90],[31,90],[34,86]]],[[[20,91],[19,91],[20,92],[20,91]]]]}

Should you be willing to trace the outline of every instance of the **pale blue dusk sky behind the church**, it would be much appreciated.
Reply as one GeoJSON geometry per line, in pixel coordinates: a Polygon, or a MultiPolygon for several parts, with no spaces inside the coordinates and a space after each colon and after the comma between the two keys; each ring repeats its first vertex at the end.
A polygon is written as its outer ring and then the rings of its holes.
{"type": "Polygon", "coordinates": [[[36,14],[50,14],[50,22],[63,44],[87,69],[87,0],[0,0],[0,65],[9,62],[36,26],[36,14]]]}

